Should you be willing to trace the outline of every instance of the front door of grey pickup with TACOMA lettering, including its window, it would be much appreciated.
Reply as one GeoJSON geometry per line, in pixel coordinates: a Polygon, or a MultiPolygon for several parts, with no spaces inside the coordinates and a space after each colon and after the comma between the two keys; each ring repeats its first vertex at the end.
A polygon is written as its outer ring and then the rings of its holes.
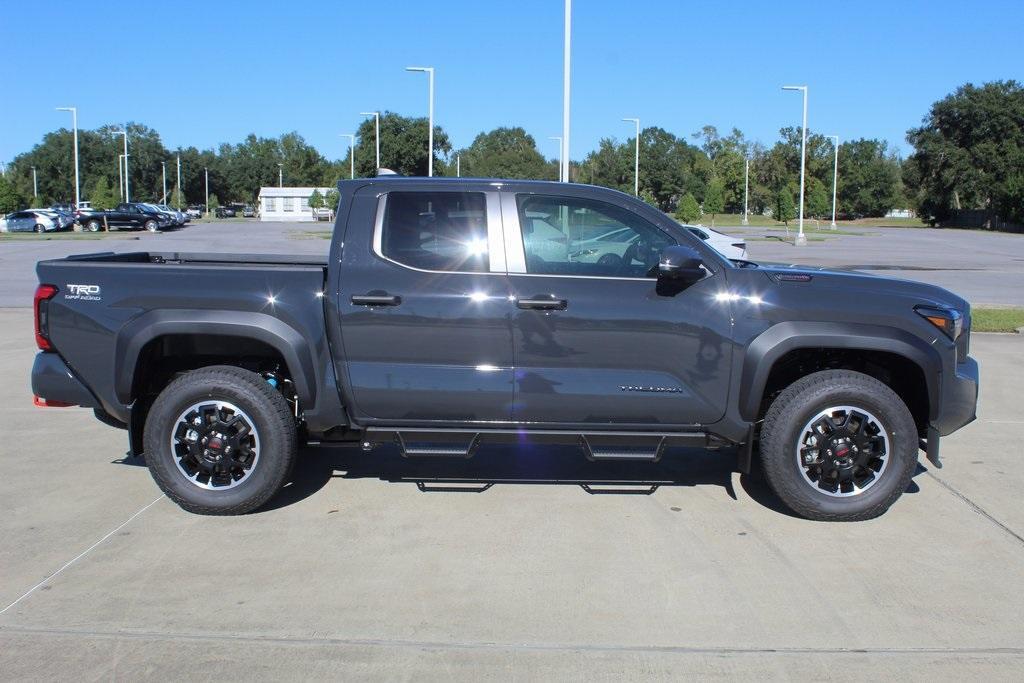
{"type": "Polygon", "coordinates": [[[665,291],[651,270],[664,246],[690,238],[582,196],[506,194],[502,207],[516,421],[626,428],[724,415],[724,273],[665,291]]]}

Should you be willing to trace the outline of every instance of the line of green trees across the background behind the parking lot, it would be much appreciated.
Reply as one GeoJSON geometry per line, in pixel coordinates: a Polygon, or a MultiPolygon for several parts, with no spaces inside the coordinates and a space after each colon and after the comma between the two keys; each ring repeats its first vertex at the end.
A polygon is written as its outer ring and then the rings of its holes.
{"type": "MultiPolygon", "coordinates": [[[[427,173],[427,120],[385,112],[380,119],[381,166],[402,175],[427,173]]],[[[94,206],[117,203],[120,127],[79,131],[82,197],[94,206]]],[[[259,187],[276,185],[279,168],[286,185],[331,186],[349,177],[348,153],[330,161],[298,133],[275,138],[249,135],[216,150],[168,150],[160,135],[129,124],[129,172],[133,199],[182,206],[202,203],[210,194],[221,202],[251,203],[259,187]],[[181,160],[177,186],[176,159],[181,160]],[[166,163],[168,197],[163,197],[166,163]],[[280,165],[280,166],[279,166],[280,165]]],[[[356,132],[354,171],[376,173],[374,122],[356,132]]],[[[991,214],[997,221],[1024,222],[1024,89],[1015,81],[980,87],[965,85],[933,104],[920,127],[907,133],[913,154],[900,159],[879,139],[841,141],[838,214],[850,218],[883,216],[911,208],[926,220],[949,220],[965,209],[991,214]]],[[[722,133],[714,126],[679,136],[660,127],[640,133],[640,195],[650,204],[686,221],[701,214],[743,210],[749,163],[751,213],[788,220],[796,214],[800,174],[799,127],[785,127],[771,145],[746,138],[737,129],[722,133]]],[[[596,150],[569,164],[569,178],[633,191],[635,139],[601,139],[596,150]]],[[[805,215],[831,213],[833,140],[813,131],[807,136],[805,215]]],[[[521,127],[481,132],[464,148],[454,148],[446,132],[434,128],[434,174],[556,180],[558,162],[546,158],[521,127]]],[[[71,131],[48,133],[32,151],[16,157],[0,180],[0,211],[26,204],[74,200],[71,131]],[[39,199],[32,201],[31,167],[39,178],[39,199]],[[17,206],[14,206],[14,205],[17,206]]],[[[212,201],[211,201],[212,204],[212,201]]]]}

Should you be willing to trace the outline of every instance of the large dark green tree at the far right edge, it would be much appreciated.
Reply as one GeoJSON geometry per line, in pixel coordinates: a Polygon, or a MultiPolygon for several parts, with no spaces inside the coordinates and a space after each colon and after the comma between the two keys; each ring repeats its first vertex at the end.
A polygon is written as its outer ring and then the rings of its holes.
{"type": "Polygon", "coordinates": [[[919,214],[940,222],[961,209],[1024,223],[1024,87],[970,83],[932,104],[907,132],[903,181],[919,214]]]}

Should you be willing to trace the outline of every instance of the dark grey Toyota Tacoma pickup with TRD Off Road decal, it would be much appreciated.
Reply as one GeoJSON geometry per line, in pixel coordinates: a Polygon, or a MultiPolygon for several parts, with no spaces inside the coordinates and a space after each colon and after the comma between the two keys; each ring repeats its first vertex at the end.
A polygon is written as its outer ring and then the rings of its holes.
{"type": "Polygon", "coordinates": [[[971,311],[943,289],[729,261],[601,187],[338,189],[326,260],[40,262],[36,403],[126,428],[167,496],[205,514],[266,503],[303,443],[466,458],[511,442],[735,453],[798,514],[859,520],[975,417],[971,311]]]}

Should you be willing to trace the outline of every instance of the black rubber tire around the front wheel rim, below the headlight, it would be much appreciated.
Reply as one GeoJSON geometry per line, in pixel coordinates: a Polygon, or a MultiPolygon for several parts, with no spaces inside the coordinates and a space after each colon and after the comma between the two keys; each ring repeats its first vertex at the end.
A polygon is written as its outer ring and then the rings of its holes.
{"type": "Polygon", "coordinates": [[[848,370],[803,377],[772,401],[761,427],[761,464],[772,490],[808,519],[858,521],[883,514],[907,486],[918,464],[918,428],[903,400],[879,380],[848,370]],[[801,431],[819,411],[861,408],[881,420],[889,436],[889,462],[869,488],[848,498],[828,496],[804,478],[797,459],[801,431]]]}

